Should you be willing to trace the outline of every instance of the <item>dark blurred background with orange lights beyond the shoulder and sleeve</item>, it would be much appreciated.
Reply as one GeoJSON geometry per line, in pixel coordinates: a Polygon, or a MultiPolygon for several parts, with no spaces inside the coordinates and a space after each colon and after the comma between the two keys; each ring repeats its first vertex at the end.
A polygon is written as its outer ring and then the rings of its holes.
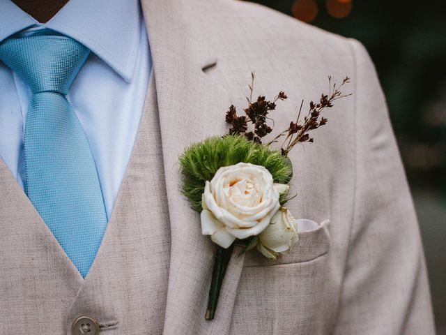
{"type": "Polygon", "coordinates": [[[446,1],[253,2],[369,50],[413,191],[438,335],[446,335],[446,1]]]}

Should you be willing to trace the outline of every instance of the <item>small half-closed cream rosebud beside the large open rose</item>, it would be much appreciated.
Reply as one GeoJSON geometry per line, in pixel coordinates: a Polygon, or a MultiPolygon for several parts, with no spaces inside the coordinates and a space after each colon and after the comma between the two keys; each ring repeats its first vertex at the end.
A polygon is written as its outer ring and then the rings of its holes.
{"type": "Polygon", "coordinates": [[[299,221],[287,209],[279,209],[268,228],[259,234],[257,250],[271,260],[275,260],[279,253],[289,251],[298,243],[299,221]]]}

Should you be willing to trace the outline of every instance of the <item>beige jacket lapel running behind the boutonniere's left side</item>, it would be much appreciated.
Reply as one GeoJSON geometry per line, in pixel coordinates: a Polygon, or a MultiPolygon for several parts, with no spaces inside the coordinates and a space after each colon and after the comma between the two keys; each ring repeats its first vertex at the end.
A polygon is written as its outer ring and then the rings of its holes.
{"type": "MultiPolygon", "coordinates": [[[[141,1],[151,45],[167,199],[171,225],[171,261],[164,334],[229,332],[244,256],[234,255],[226,271],[217,314],[204,318],[215,245],[201,234],[199,214],[180,194],[178,156],[185,147],[226,133],[229,94],[203,68],[217,57],[206,47],[199,1],[141,1]],[[197,17],[197,19],[194,19],[197,17]]],[[[206,34],[212,34],[207,31],[206,34]]]]}

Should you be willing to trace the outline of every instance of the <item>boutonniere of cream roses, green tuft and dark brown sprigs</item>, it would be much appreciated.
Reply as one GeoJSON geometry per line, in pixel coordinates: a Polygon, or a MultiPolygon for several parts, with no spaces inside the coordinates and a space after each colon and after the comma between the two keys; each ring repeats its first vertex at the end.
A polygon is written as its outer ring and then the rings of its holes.
{"type": "Polygon", "coordinates": [[[252,73],[244,114],[238,115],[233,105],[226,112],[226,122],[231,125],[228,134],[192,144],[180,156],[181,190],[192,209],[200,213],[201,232],[217,245],[206,320],[215,316],[235,245],[243,246],[243,252],[256,248],[275,260],[298,243],[300,220],[286,209],[286,203],[294,198],[289,197],[293,165],[288,154],[298,143],[314,142],[310,132],[328,122],[321,112],[350,95],[341,93],[348,82],[346,77],[337,87],[329,77],[329,94],[322,94],[316,103],[310,102],[303,120],[302,101],[296,121],[264,144],[263,138],[272,133],[270,113],[287,96],[280,91],[272,101],[265,96],[253,101],[252,73]],[[282,146],[275,147],[277,143],[282,146]]]}

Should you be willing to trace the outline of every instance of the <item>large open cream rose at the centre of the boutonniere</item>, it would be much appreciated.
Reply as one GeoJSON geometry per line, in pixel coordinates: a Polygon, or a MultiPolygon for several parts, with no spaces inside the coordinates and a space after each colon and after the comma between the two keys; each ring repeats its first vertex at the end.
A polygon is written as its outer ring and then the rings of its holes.
{"type": "Polygon", "coordinates": [[[220,168],[206,181],[201,211],[201,231],[228,248],[235,239],[260,234],[279,209],[279,193],[289,186],[274,184],[260,165],[238,163],[220,168]]]}

